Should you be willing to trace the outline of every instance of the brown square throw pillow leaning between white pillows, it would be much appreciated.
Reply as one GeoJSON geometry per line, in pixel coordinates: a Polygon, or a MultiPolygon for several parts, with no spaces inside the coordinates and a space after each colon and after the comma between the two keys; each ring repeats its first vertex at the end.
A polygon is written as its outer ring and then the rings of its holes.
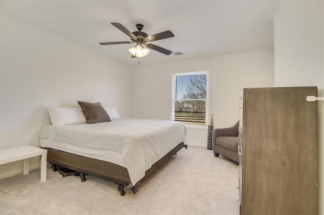
{"type": "Polygon", "coordinates": [[[87,119],[87,123],[92,124],[111,121],[109,115],[100,102],[91,103],[78,101],[77,103],[80,105],[82,112],[87,119]]]}

